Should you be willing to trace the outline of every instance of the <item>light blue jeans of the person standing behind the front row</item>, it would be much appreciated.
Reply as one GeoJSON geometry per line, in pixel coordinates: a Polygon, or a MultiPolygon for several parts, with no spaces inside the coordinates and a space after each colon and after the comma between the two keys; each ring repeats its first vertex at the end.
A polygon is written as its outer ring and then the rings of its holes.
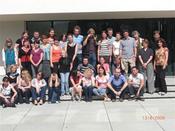
{"type": "Polygon", "coordinates": [[[61,76],[61,95],[69,93],[69,74],[70,72],[60,73],[61,76]]]}

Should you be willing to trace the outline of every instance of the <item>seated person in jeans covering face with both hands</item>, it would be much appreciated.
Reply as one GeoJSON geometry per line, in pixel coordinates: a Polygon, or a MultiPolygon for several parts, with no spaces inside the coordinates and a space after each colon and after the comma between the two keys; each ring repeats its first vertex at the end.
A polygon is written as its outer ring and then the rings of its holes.
{"type": "Polygon", "coordinates": [[[58,78],[57,73],[52,73],[49,78],[49,99],[48,102],[50,103],[57,103],[60,102],[60,79],[58,78]]]}

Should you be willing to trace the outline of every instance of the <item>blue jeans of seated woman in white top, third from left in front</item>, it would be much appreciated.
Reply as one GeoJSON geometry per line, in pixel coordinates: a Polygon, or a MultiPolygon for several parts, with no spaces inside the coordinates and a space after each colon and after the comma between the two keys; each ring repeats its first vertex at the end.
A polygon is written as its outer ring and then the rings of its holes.
{"type": "Polygon", "coordinates": [[[45,99],[46,86],[41,87],[41,90],[40,90],[39,94],[36,92],[36,88],[35,87],[32,87],[31,91],[32,91],[32,99],[33,100],[36,100],[37,97],[39,97],[41,100],[45,99]]]}

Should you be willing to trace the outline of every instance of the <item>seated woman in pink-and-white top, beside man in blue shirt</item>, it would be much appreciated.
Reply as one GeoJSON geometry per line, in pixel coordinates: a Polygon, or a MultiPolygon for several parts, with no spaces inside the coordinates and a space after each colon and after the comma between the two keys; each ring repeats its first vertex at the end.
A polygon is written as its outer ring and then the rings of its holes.
{"type": "Polygon", "coordinates": [[[96,88],[93,89],[93,93],[97,96],[103,97],[104,101],[109,101],[110,99],[106,94],[109,76],[106,74],[105,68],[103,66],[100,66],[98,70],[99,72],[96,76],[96,88]]]}

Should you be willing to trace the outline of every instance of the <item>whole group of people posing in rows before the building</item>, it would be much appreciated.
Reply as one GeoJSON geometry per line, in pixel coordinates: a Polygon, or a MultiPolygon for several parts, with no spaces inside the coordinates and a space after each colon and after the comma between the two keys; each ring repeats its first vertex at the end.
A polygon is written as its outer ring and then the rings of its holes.
{"type": "Polygon", "coordinates": [[[97,38],[90,28],[87,36],[81,35],[79,26],[73,33],[58,38],[54,29],[40,36],[38,31],[30,39],[27,31],[15,44],[5,41],[2,58],[6,76],[0,87],[3,107],[17,103],[35,105],[60,102],[60,96],[71,95],[72,100],[92,101],[97,95],[104,101],[124,99],[144,100],[145,92],[160,95],[167,93],[165,81],[168,48],[154,32],[154,40],[141,38],[138,31],[129,36],[107,28],[97,38]],[[155,74],[155,75],[154,75],[155,74]],[[155,76],[155,81],[154,81],[155,76]]]}

